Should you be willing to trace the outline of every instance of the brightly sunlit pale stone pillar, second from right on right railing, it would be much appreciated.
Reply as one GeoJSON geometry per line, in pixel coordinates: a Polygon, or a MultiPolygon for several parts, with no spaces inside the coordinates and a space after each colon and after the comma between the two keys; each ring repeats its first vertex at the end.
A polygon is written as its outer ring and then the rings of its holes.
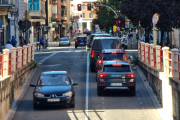
{"type": "Polygon", "coordinates": [[[166,65],[168,66],[168,61],[166,59],[168,59],[168,53],[167,51],[169,51],[169,47],[163,47],[163,68],[164,68],[164,74],[167,75],[168,73],[168,69],[167,67],[165,67],[166,65]]]}

